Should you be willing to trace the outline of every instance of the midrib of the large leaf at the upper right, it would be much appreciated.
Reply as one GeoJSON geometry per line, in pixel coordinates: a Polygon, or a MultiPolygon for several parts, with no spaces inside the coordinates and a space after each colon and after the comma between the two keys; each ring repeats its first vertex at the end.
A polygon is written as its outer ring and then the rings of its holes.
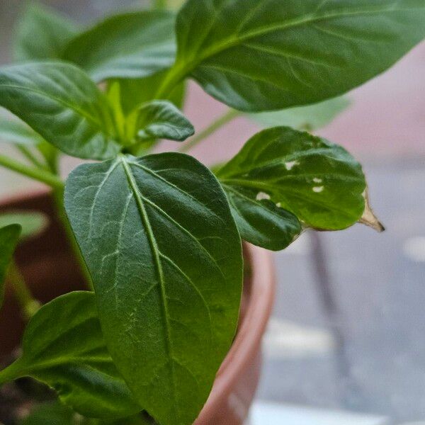
{"type": "MultiPolygon", "coordinates": [[[[349,11],[349,12],[339,12],[339,11],[334,11],[334,12],[327,12],[327,13],[322,13],[319,15],[315,15],[310,13],[307,16],[302,16],[296,19],[293,19],[292,21],[287,21],[285,23],[277,23],[274,26],[263,26],[260,28],[256,28],[256,30],[252,30],[249,31],[247,33],[245,33],[245,35],[243,36],[239,36],[239,35],[233,35],[231,37],[225,38],[225,40],[223,40],[220,43],[217,43],[217,45],[213,45],[212,47],[210,47],[209,49],[206,49],[203,55],[200,55],[200,57],[197,57],[196,60],[192,60],[188,63],[186,63],[186,65],[184,65],[184,60],[183,60],[183,67],[181,67],[181,70],[177,71],[176,74],[181,74],[181,75],[186,75],[186,74],[190,74],[192,72],[192,70],[198,66],[198,64],[202,63],[205,60],[208,60],[210,57],[217,55],[218,53],[221,53],[231,47],[234,47],[236,45],[238,45],[239,43],[242,43],[246,40],[250,40],[252,38],[256,38],[260,35],[266,35],[268,33],[273,33],[277,30],[287,30],[290,28],[295,28],[297,26],[304,26],[310,23],[316,23],[316,22],[320,22],[320,21],[324,21],[324,20],[331,20],[331,19],[336,19],[336,18],[346,18],[349,16],[361,16],[361,15],[371,15],[371,14],[375,14],[375,13],[392,13],[392,12],[403,12],[403,11],[423,11],[425,9],[424,8],[379,8],[376,7],[375,10],[370,10],[370,8],[368,9],[357,9],[357,10],[353,10],[353,11],[349,11]]],[[[205,35],[205,38],[208,37],[209,33],[207,33],[205,35]]],[[[205,38],[203,41],[205,41],[205,38]]],[[[203,43],[200,43],[200,45],[202,45],[203,43]]],[[[179,61],[179,60],[178,60],[179,61]]]]}

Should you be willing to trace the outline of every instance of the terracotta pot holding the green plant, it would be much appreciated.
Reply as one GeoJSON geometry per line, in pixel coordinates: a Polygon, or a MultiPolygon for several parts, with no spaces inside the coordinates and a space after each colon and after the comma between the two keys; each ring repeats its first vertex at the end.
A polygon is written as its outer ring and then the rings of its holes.
{"type": "MultiPolygon", "coordinates": [[[[16,261],[35,296],[47,302],[63,293],[84,289],[49,194],[35,193],[0,203],[0,212],[11,210],[38,210],[50,217],[50,227],[40,237],[21,244],[16,252],[16,261]]],[[[251,277],[244,284],[239,331],[196,425],[242,424],[259,382],[261,337],[271,314],[275,278],[271,256],[266,251],[248,244],[244,251],[251,277]]],[[[0,356],[7,356],[18,346],[23,328],[18,305],[10,290],[6,290],[0,311],[0,356]]]]}

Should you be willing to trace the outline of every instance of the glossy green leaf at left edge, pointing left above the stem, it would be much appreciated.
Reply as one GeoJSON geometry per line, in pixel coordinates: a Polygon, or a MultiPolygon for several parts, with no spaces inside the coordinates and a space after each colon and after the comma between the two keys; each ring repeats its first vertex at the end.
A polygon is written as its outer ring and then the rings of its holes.
{"type": "Polygon", "coordinates": [[[0,106],[74,157],[106,159],[120,151],[106,97],[74,65],[34,62],[1,68],[0,106]]]}

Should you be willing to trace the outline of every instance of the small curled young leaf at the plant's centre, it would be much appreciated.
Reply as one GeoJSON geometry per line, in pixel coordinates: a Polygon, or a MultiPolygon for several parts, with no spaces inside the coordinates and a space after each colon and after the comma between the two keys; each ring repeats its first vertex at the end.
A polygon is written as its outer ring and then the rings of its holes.
{"type": "Polygon", "coordinates": [[[168,139],[183,142],[195,129],[190,121],[169,101],[152,101],[140,106],[135,124],[137,139],[168,139]]]}

